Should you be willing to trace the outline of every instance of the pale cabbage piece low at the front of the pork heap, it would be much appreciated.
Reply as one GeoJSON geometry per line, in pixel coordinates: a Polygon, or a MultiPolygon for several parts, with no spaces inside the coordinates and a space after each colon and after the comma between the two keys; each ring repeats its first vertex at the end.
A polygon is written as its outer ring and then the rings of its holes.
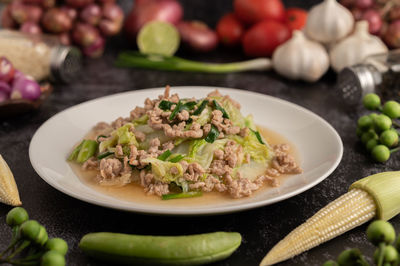
{"type": "Polygon", "coordinates": [[[178,178],[183,176],[183,168],[179,163],[161,161],[151,157],[142,160],[142,162],[151,164],[151,171],[154,177],[161,182],[175,182],[178,178]],[[177,174],[171,174],[172,167],[176,167],[178,169],[177,174]]]}

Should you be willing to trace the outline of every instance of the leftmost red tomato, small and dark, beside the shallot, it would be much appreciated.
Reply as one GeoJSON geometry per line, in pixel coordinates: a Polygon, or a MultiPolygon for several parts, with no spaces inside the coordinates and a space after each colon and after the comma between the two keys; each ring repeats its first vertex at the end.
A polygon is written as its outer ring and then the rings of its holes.
{"type": "Polygon", "coordinates": [[[218,38],[225,46],[235,46],[239,44],[243,33],[244,27],[233,13],[226,14],[218,21],[218,38]]]}

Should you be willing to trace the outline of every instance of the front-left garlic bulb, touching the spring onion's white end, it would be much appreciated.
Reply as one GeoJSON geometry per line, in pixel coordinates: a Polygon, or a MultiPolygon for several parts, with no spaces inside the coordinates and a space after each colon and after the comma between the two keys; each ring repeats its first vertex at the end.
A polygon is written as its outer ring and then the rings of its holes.
{"type": "Polygon", "coordinates": [[[329,68],[329,57],[325,48],[308,40],[301,31],[279,46],[272,55],[276,72],[290,79],[318,80],[329,68]]]}

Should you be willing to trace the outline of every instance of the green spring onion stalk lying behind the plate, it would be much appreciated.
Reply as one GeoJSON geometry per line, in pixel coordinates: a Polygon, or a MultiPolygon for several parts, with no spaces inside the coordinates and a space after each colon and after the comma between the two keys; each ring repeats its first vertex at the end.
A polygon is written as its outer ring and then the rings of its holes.
{"type": "Polygon", "coordinates": [[[249,70],[269,70],[272,67],[270,59],[257,58],[235,63],[203,63],[176,56],[149,56],[138,52],[122,52],[118,55],[118,67],[139,67],[157,70],[229,73],[249,70]]]}

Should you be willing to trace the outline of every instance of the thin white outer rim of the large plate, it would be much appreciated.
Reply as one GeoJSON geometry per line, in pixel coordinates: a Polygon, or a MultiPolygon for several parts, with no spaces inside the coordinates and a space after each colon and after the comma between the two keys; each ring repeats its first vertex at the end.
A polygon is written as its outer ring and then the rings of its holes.
{"type": "Polygon", "coordinates": [[[240,205],[233,205],[233,206],[223,206],[223,207],[217,207],[217,208],[211,208],[211,209],[157,209],[157,208],[139,208],[139,207],[126,207],[126,206],[115,206],[115,204],[110,204],[104,201],[96,201],[96,200],[92,200],[90,198],[85,198],[84,196],[78,194],[78,193],[74,193],[71,192],[68,189],[64,189],[62,186],[57,185],[55,182],[52,181],[51,178],[47,178],[47,175],[45,173],[42,172],[42,170],[40,169],[39,165],[36,164],[36,162],[33,159],[33,143],[36,141],[36,139],[38,138],[38,134],[40,133],[41,130],[43,130],[43,128],[45,126],[47,126],[49,123],[51,123],[51,121],[53,119],[57,119],[58,116],[62,115],[64,112],[68,112],[70,110],[73,110],[75,108],[79,108],[81,105],[86,105],[86,104],[91,104],[94,103],[96,101],[101,101],[105,98],[113,98],[113,97],[119,97],[121,95],[124,94],[132,94],[132,93],[136,93],[136,92],[145,92],[145,91],[156,91],[156,90],[163,90],[164,87],[154,87],[154,88],[146,88],[146,89],[139,89],[139,90],[129,90],[129,91],[125,91],[125,92],[119,92],[119,93],[114,93],[114,94],[110,94],[110,95],[104,95],[98,98],[94,98],[88,101],[84,101],[81,102],[79,104],[70,106],[56,114],[54,114],[52,117],[50,117],[49,119],[47,119],[45,122],[43,122],[42,125],[40,125],[40,127],[36,130],[36,132],[34,133],[34,135],[31,138],[30,144],[29,144],[29,160],[30,163],[32,165],[32,167],[34,168],[35,172],[39,175],[39,177],[45,181],[48,185],[50,185],[51,187],[53,187],[54,189],[70,196],[73,197],[75,199],[81,200],[83,202],[87,202],[93,205],[97,205],[97,206],[102,206],[102,207],[106,207],[106,208],[111,208],[111,209],[116,209],[116,210],[121,210],[121,211],[128,211],[128,212],[136,212],[136,213],[142,213],[142,214],[150,214],[150,215],[170,215],[170,216],[195,216],[195,215],[218,215],[218,214],[226,214],[226,213],[233,213],[233,212],[239,212],[239,211],[245,211],[245,210],[250,210],[250,209],[254,209],[254,208],[258,208],[258,207],[262,207],[262,206],[267,206],[270,204],[274,204],[277,203],[279,201],[283,201],[286,200],[288,198],[294,197],[298,194],[303,193],[306,190],[309,190],[310,188],[316,186],[317,184],[319,184],[320,182],[322,182],[323,180],[325,180],[339,165],[339,163],[341,162],[342,158],[343,158],[343,141],[339,135],[339,133],[336,131],[336,129],[330,124],[328,123],[325,119],[323,119],[321,116],[319,116],[318,114],[306,109],[303,106],[300,106],[296,103],[292,103],[290,101],[281,99],[281,98],[277,98],[271,95],[267,95],[267,94],[262,94],[259,92],[254,92],[254,91],[247,91],[247,90],[242,90],[242,89],[236,89],[236,88],[227,88],[227,87],[216,87],[216,86],[171,86],[171,89],[220,89],[220,90],[224,90],[224,91],[235,91],[236,93],[244,93],[244,94],[251,94],[253,96],[261,96],[261,97],[265,97],[265,98],[269,98],[270,100],[273,101],[277,101],[281,104],[284,105],[288,105],[291,107],[295,107],[297,109],[300,109],[301,111],[311,115],[313,118],[316,118],[319,122],[321,122],[322,124],[324,124],[324,126],[326,126],[327,128],[330,129],[330,131],[333,133],[333,136],[335,137],[335,140],[337,141],[339,145],[339,149],[338,149],[338,156],[336,158],[336,160],[334,161],[334,163],[329,167],[329,169],[322,174],[320,177],[318,177],[317,179],[313,180],[310,183],[307,183],[306,185],[291,191],[289,193],[285,193],[283,195],[279,195],[277,197],[274,197],[272,199],[266,199],[266,200],[261,200],[261,201],[256,201],[256,202],[249,202],[249,203],[243,203],[240,205]]]}

